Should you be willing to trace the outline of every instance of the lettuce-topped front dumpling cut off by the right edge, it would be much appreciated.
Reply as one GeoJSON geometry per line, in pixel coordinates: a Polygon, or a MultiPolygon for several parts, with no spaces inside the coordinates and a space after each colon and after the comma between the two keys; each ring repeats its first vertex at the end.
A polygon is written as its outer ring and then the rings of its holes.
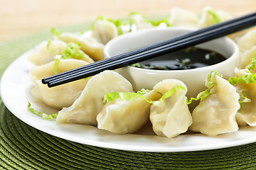
{"type": "Polygon", "coordinates": [[[256,73],[235,68],[235,76],[228,81],[235,86],[242,100],[236,114],[238,125],[256,126],[256,73]]]}

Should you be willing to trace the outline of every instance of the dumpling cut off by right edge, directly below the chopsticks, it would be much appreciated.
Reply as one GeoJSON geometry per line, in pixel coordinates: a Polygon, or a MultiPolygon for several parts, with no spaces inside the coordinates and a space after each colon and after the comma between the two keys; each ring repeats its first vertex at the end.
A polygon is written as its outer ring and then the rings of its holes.
{"type": "Polygon", "coordinates": [[[256,45],[256,29],[248,31],[245,35],[238,40],[238,47],[240,52],[250,50],[251,47],[256,45]]]}

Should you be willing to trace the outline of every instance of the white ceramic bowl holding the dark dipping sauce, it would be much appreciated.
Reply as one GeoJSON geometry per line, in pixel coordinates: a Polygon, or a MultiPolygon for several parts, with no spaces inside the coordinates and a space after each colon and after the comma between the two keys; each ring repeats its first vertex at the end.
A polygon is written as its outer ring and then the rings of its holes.
{"type": "MultiPolygon", "coordinates": [[[[113,57],[137,49],[138,47],[151,45],[190,31],[193,31],[193,29],[178,27],[151,28],[139,30],[135,33],[120,35],[119,37],[110,40],[105,46],[105,58],[113,57]]],[[[122,74],[123,77],[132,83],[134,91],[139,91],[143,88],[152,89],[155,84],[163,79],[179,79],[188,87],[188,98],[196,97],[199,92],[206,89],[204,84],[207,74],[215,70],[219,74],[222,74],[225,79],[233,77],[234,69],[238,65],[239,60],[238,46],[233,40],[230,40],[230,38],[218,38],[197,45],[197,47],[219,52],[226,57],[227,60],[208,67],[196,69],[153,70],[128,66],[117,69],[117,72],[122,74]]]]}

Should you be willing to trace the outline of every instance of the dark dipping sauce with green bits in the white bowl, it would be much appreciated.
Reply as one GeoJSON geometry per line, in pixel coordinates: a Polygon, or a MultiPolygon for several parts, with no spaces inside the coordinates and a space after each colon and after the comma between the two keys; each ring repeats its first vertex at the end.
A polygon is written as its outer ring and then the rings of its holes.
{"type": "Polygon", "coordinates": [[[158,70],[196,69],[223,62],[226,58],[218,52],[199,47],[188,47],[183,50],[145,60],[133,67],[158,70]]]}

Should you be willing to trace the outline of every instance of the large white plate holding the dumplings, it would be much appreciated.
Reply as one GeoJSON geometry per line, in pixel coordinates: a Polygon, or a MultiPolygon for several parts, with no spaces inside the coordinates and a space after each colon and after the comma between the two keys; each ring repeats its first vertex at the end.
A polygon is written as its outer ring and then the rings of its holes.
{"type": "Polygon", "coordinates": [[[142,152],[188,152],[256,142],[256,128],[250,127],[240,128],[238,132],[217,137],[193,134],[169,139],[153,135],[150,125],[142,128],[137,134],[115,135],[89,125],[60,125],[55,121],[43,120],[28,111],[28,102],[39,111],[46,113],[55,113],[55,111],[31,96],[32,83],[28,72],[33,64],[28,62],[27,56],[28,52],[18,57],[4,72],[1,78],[1,98],[16,117],[50,135],[86,145],[142,152]]]}

